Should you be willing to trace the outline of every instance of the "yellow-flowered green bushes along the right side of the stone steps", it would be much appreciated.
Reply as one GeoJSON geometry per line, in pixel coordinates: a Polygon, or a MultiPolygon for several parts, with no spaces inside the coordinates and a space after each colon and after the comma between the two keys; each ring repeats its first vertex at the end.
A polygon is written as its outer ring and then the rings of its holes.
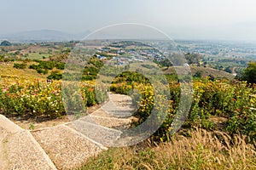
{"type": "MultiPolygon", "coordinates": [[[[227,119],[226,130],[230,134],[241,133],[256,139],[256,92],[255,88],[247,87],[240,82],[231,85],[229,82],[212,81],[208,79],[196,80],[194,83],[194,99],[189,111],[189,116],[183,127],[203,127],[214,129],[212,116],[222,116],[227,119]]],[[[139,109],[134,114],[138,121],[135,125],[144,122],[154,107],[154,89],[150,84],[143,83],[117,83],[111,86],[111,90],[119,94],[127,94],[136,88],[142,95],[139,109]]],[[[179,83],[170,82],[170,106],[168,116],[160,129],[154,133],[153,139],[168,140],[172,130],[172,122],[176,115],[179,103],[179,83]]],[[[161,108],[158,108],[161,111],[161,108]]]]}

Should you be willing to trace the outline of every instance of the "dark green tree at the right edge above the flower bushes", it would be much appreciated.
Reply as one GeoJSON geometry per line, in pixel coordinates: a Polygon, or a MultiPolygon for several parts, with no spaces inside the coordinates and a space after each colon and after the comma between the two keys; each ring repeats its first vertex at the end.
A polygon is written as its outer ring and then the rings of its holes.
{"type": "Polygon", "coordinates": [[[248,83],[256,83],[256,62],[249,63],[239,79],[248,83]]]}

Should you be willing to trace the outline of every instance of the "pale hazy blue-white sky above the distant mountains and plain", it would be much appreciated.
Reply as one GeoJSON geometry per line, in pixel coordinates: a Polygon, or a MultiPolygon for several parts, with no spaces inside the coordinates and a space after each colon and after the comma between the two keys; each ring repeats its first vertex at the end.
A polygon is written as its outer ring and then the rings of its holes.
{"type": "Polygon", "coordinates": [[[256,41],[255,0],[1,0],[0,34],[141,23],[185,39],[256,41]]]}

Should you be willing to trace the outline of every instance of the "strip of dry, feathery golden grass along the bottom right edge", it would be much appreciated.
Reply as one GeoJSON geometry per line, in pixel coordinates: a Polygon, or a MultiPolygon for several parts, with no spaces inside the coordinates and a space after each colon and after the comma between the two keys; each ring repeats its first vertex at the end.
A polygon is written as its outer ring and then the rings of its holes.
{"type": "Polygon", "coordinates": [[[107,150],[81,169],[256,169],[255,154],[244,138],[195,130],[156,147],[107,150]]]}

